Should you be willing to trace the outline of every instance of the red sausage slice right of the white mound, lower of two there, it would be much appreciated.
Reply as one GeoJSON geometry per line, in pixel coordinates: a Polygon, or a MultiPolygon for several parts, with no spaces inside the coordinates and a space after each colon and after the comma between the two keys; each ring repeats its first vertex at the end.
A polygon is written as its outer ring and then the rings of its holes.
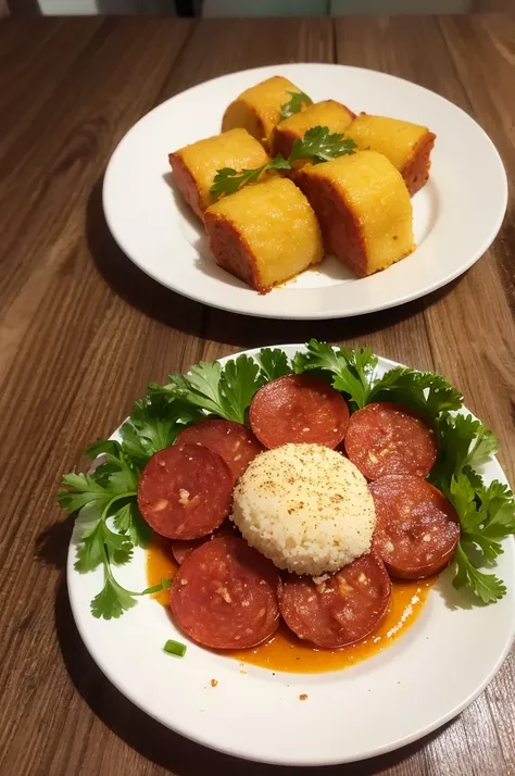
{"type": "Polygon", "coordinates": [[[374,551],[392,576],[424,579],[451,562],[460,522],[451,502],[425,479],[382,477],[370,484],[376,506],[374,551]]]}

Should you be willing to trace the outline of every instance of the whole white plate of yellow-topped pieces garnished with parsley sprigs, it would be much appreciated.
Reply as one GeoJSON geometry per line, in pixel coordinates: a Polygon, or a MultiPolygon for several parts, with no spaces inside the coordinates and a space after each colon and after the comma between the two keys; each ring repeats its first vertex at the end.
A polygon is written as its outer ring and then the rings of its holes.
{"type": "Polygon", "coordinates": [[[141,270],[276,318],[369,313],[440,288],[489,248],[506,202],[501,159],[467,113],[334,64],[233,73],[173,97],[122,139],[103,185],[109,227],[141,270]]]}

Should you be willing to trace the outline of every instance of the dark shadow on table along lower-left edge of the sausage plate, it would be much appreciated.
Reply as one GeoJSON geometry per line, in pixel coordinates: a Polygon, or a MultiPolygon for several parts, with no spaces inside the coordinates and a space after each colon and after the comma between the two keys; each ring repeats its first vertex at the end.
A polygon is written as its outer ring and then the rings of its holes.
{"type": "MultiPolygon", "coordinates": [[[[51,549],[50,558],[64,561],[68,537],[63,529],[58,539],[56,534],[50,540],[47,536],[43,547],[47,549],[54,541],[61,540],[62,549],[55,546],[51,549]]],[[[71,526],[67,526],[67,534],[71,526]]],[[[41,553],[39,553],[41,556],[41,553]]],[[[147,716],[142,711],[128,701],[118,690],[109,683],[100,668],[90,658],[86,647],[78,635],[72,616],[66,577],[64,570],[58,588],[55,600],[55,625],[59,643],[68,675],[77,691],[91,711],[129,747],[139,752],[151,762],[167,768],[176,776],[198,776],[199,773],[223,773],[224,776],[240,776],[242,771],[247,776],[287,776],[288,774],[302,774],[303,776],[373,776],[384,773],[407,758],[414,755],[428,741],[438,734],[431,734],[424,739],[404,747],[397,752],[385,754],[374,760],[363,761],[344,766],[324,768],[294,768],[263,765],[260,763],[244,762],[201,747],[181,736],[172,733],[166,727],[147,716]]]]}

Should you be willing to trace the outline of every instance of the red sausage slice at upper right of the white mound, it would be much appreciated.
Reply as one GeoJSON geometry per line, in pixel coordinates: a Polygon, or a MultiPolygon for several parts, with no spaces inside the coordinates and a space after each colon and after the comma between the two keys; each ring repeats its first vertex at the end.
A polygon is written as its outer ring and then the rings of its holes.
{"type": "Polygon", "coordinates": [[[437,460],[429,427],[410,410],[388,401],[367,404],[352,415],[346,451],[367,479],[388,474],[426,477],[437,460]]]}

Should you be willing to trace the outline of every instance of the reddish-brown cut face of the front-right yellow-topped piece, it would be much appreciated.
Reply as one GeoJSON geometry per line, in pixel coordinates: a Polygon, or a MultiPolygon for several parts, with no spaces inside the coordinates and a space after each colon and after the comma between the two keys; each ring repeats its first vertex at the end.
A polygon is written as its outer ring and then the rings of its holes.
{"type": "Polygon", "coordinates": [[[352,210],[332,182],[310,175],[309,170],[294,173],[293,180],[315,211],[325,250],[336,253],[359,277],[366,277],[365,240],[352,210]]]}

